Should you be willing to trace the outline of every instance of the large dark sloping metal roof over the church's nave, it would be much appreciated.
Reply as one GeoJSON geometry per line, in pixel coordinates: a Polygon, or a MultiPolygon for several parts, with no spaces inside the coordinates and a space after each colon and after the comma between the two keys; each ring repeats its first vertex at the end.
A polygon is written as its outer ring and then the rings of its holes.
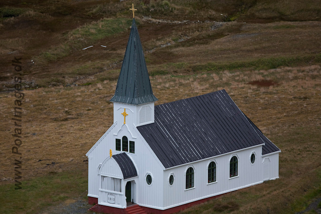
{"type": "Polygon", "coordinates": [[[264,143],[225,90],[155,106],[137,129],[165,168],[264,143]]]}

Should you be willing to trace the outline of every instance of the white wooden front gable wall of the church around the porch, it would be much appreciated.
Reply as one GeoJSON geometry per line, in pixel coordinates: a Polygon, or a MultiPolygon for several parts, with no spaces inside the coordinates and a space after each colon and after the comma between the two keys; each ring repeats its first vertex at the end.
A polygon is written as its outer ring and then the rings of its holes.
{"type": "MultiPolygon", "coordinates": [[[[146,105],[152,105],[149,103],[146,105]]],[[[143,106],[143,105],[142,105],[143,106]]],[[[116,151],[115,139],[121,139],[123,136],[128,138],[128,141],[135,142],[135,153],[127,153],[136,165],[138,178],[128,178],[122,182],[122,193],[127,181],[135,180],[135,199],[136,203],[154,208],[163,207],[163,174],[164,166],[157,159],[151,148],[146,141],[141,137],[138,130],[135,128],[135,124],[138,123],[138,109],[142,106],[133,106],[114,103],[114,124],[110,129],[101,137],[101,139],[94,145],[94,147],[87,153],[88,156],[88,196],[98,197],[98,203],[102,205],[110,205],[118,207],[117,204],[109,204],[99,199],[99,197],[106,198],[105,193],[99,191],[100,176],[98,176],[99,164],[102,164],[106,158],[109,158],[109,149],[113,154],[118,154],[121,151],[116,151]],[[124,124],[124,117],[121,113],[126,108],[126,124],[124,124]],[[134,113],[137,115],[134,116],[134,113]],[[147,185],[145,175],[147,173],[152,175],[151,185],[147,185]]],[[[113,159],[111,159],[113,160],[113,159]]],[[[114,161],[114,160],[113,160],[114,161]]],[[[117,163],[116,163],[117,164],[117,163]]],[[[110,164],[109,164],[110,166],[110,164]]],[[[104,166],[100,166],[104,167],[104,166]]],[[[116,167],[117,168],[117,167],[116,167]]],[[[101,170],[101,175],[117,177],[116,172],[110,170],[116,170],[111,167],[108,171],[101,170]]],[[[119,169],[120,170],[120,169],[119,169]]],[[[122,176],[122,174],[121,174],[122,176]]],[[[134,190],[132,189],[132,192],[134,190]]],[[[120,197],[120,196],[119,196],[120,197]]],[[[126,205],[121,205],[122,208],[126,205]]]]}

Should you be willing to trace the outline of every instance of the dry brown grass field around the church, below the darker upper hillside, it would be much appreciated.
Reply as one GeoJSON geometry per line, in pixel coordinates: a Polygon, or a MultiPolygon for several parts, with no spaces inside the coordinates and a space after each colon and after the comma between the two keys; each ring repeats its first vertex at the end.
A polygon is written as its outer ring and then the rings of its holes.
{"type": "MultiPolygon", "coordinates": [[[[282,150],[280,179],[226,194],[184,212],[214,212],[216,209],[213,207],[228,212],[231,210],[226,204],[229,205],[233,201],[237,204],[235,213],[265,213],[268,209],[269,213],[293,213],[303,209],[311,198],[321,196],[320,75],[319,66],[307,66],[151,77],[154,94],[159,99],[157,104],[225,88],[241,110],[282,150]],[[278,84],[268,88],[247,84],[262,79],[270,79],[278,84]],[[300,170],[297,170],[298,168],[300,170]]],[[[95,139],[111,125],[112,105],[108,100],[112,96],[115,84],[116,81],[106,81],[89,86],[41,88],[26,92],[23,175],[27,183],[37,183],[38,178],[33,177],[40,176],[48,184],[47,188],[56,189],[55,193],[39,197],[37,207],[57,204],[64,199],[72,198],[72,190],[75,190],[76,195],[85,196],[83,190],[87,178],[84,154],[95,143],[95,139]],[[70,162],[71,158],[73,161],[70,162]],[[45,160],[38,162],[39,159],[45,160]],[[46,166],[52,161],[58,164],[46,166]],[[57,172],[55,176],[60,179],[61,176],[66,176],[64,171],[75,168],[84,172],[75,175],[82,180],[80,189],[76,185],[65,189],[64,185],[57,186],[54,182],[46,181],[52,178],[44,176],[50,172],[57,172]],[[31,181],[28,181],[28,178],[31,181]]],[[[10,117],[13,102],[13,94],[7,95],[8,97],[1,98],[3,113],[0,116],[4,118],[10,117]]],[[[9,122],[1,125],[5,141],[9,142],[1,147],[5,158],[10,160],[13,158],[9,155],[10,134],[13,129],[8,127],[9,122]]],[[[10,161],[5,161],[3,167],[9,175],[12,173],[10,161]]],[[[74,177],[70,176],[70,180],[73,179],[74,177]]],[[[27,183],[24,183],[23,187],[30,189],[27,183]]],[[[13,184],[6,186],[2,186],[5,188],[4,198],[12,198],[19,193],[13,189],[13,184]]],[[[34,187],[33,191],[36,194],[43,191],[44,186],[34,187]]],[[[34,200],[23,197],[22,195],[27,207],[35,203],[34,200]]],[[[13,206],[13,209],[17,208],[19,207],[13,206]]]]}

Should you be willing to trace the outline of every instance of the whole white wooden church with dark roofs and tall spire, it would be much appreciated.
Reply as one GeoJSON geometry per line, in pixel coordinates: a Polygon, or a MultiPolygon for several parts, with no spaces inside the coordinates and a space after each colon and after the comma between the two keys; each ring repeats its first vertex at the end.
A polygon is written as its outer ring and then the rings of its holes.
{"type": "Polygon", "coordinates": [[[279,152],[225,90],[154,106],[133,19],[114,122],[88,151],[90,210],[173,213],[278,178],[279,152]]]}

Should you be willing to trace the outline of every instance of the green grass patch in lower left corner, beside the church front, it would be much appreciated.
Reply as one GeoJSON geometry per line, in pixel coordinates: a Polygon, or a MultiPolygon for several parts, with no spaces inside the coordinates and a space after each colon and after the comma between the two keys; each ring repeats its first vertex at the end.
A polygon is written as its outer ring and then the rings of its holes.
{"type": "Polygon", "coordinates": [[[61,203],[75,195],[87,197],[87,171],[49,172],[22,182],[23,189],[14,184],[0,185],[1,213],[39,213],[46,207],[61,203]]]}

